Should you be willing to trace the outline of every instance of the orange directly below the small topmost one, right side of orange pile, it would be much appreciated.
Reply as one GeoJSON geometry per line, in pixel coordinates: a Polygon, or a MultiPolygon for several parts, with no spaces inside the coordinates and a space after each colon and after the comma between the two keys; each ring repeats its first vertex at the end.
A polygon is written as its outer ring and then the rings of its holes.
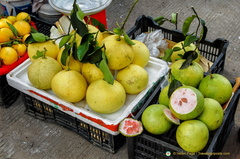
{"type": "Polygon", "coordinates": [[[17,29],[19,36],[24,36],[31,32],[31,26],[24,20],[16,21],[13,26],[17,29]]]}

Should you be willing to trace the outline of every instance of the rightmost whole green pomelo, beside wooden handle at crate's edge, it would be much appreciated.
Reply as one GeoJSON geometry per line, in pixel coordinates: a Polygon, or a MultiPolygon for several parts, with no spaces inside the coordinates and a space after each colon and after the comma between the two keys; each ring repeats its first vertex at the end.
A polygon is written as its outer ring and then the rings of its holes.
{"type": "Polygon", "coordinates": [[[213,98],[220,104],[227,102],[232,95],[231,83],[220,74],[211,74],[204,77],[198,89],[205,98],[213,98]]]}

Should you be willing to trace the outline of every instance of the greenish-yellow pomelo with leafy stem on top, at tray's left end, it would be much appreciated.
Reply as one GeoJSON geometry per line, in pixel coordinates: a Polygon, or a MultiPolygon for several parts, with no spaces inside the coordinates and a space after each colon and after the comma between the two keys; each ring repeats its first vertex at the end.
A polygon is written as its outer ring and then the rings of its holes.
{"type": "Polygon", "coordinates": [[[28,79],[38,89],[51,89],[52,78],[62,70],[61,65],[52,57],[40,57],[28,67],[28,79]]]}

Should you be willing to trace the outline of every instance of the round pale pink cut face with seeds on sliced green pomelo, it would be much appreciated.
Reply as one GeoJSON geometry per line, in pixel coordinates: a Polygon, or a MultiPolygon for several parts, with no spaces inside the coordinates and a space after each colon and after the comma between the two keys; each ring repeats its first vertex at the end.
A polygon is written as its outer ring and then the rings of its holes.
{"type": "Polygon", "coordinates": [[[172,94],[171,105],[177,113],[187,114],[196,107],[197,96],[191,89],[180,88],[172,94]]]}

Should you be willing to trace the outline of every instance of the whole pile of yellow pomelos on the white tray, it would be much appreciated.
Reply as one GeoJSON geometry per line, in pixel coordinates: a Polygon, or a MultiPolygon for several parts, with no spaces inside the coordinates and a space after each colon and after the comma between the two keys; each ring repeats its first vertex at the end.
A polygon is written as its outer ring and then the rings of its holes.
{"type": "MultiPolygon", "coordinates": [[[[99,45],[105,45],[108,67],[114,76],[113,84],[104,80],[103,72],[96,64],[82,63],[69,56],[67,65],[63,65],[63,48],[60,49],[54,40],[28,45],[31,60],[28,78],[34,87],[52,90],[62,100],[71,103],[86,100],[97,113],[114,113],[124,105],[127,94],[138,94],[147,87],[145,66],[150,53],[140,41],[129,45],[122,36],[103,36],[97,27],[90,24],[87,28],[89,33],[95,33],[99,45]],[[45,52],[44,56],[35,58],[39,52],[45,52]]],[[[81,39],[77,34],[78,45],[81,39]]]]}

